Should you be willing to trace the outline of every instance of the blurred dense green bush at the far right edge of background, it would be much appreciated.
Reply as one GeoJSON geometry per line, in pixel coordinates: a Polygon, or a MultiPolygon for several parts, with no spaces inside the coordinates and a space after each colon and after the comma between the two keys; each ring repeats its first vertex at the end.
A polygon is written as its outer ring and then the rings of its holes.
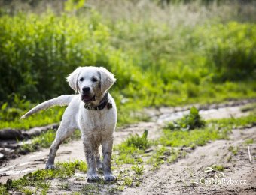
{"type": "Polygon", "coordinates": [[[206,49],[208,64],[215,69],[215,80],[255,78],[256,26],[231,22],[197,29],[201,49],[206,49]]]}

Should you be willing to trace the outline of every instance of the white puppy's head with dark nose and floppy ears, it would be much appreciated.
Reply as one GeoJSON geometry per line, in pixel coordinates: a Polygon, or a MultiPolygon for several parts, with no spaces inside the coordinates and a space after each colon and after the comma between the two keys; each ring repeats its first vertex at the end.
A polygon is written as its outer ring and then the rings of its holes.
{"type": "Polygon", "coordinates": [[[99,100],[115,82],[114,74],[102,67],[78,67],[69,74],[67,81],[84,103],[99,100]]]}

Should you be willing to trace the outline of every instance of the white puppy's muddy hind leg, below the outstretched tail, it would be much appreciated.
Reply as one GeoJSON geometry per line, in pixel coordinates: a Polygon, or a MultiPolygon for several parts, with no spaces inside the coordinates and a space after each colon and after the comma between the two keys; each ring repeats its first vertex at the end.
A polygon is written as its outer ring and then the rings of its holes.
{"type": "Polygon", "coordinates": [[[68,126],[61,123],[59,125],[59,129],[57,130],[56,137],[53,141],[53,144],[50,146],[49,158],[47,160],[46,169],[54,169],[54,160],[56,156],[56,152],[59,149],[59,145],[64,142],[72,133],[75,131],[75,128],[67,128],[68,126]]]}

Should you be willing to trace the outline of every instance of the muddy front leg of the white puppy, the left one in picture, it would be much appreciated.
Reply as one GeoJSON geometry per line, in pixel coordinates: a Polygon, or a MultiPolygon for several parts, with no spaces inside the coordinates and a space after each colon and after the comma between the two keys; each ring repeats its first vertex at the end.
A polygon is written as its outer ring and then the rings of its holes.
{"type": "Polygon", "coordinates": [[[96,172],[96,160],[95,160],[95,150],[93,143],[90,140],[83,140],[84,144],[84,154],[87,160],[88,172],[87,172],[87,181],[94,182],[99,180],[99,176],[96,172]]]}

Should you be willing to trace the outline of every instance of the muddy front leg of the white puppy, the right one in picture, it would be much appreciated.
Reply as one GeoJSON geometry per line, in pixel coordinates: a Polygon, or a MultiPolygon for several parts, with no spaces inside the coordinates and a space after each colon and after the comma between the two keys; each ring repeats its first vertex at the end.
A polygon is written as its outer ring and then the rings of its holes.
{"type": "Polygon", "coordinates": [[[111,172],[111,154],[113,147],[114,138],[110,137],[110,139],[102,142],[102,153],[103,153],[103,172],[105,181],[116,181],[117,178],[112,175],[111,172]]]}

